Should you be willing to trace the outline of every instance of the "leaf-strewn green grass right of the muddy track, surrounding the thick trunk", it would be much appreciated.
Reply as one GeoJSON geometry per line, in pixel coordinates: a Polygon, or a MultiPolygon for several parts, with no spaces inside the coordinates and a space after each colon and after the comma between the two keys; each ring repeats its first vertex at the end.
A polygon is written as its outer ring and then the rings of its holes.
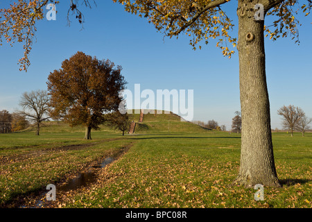
{"type": "Polygon", "coordinates": [[[263,201],[254,200],[254,189],[232,185],[239,170],[240,138],[218,133],[138,136],[139,142],[103,171],[94,189],[76,193],[74,200],[64,197],[63,203],[67,207],[311,207],[311,137],[305,148],[291,142],[295,154],[283,148],[281,138],[274,139],[275,158],[284,186],[266,187],[263,201]]]}

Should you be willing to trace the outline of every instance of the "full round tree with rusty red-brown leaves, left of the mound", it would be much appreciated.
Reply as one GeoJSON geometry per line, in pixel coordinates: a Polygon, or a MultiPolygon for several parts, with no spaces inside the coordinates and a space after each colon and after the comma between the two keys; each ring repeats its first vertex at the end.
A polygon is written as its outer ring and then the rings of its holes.
{"type": "Polygon", "coordinates": [[[98,130],[104,113],[119,108],[119,92],[125,88],[121,67],[110,60],[98,60],[78,51],[62,68],[48,78],[53,108],[51,117],[63,119],[70,126],[85,126],[85,139],[91,139],[92,128],[98,130]]]}

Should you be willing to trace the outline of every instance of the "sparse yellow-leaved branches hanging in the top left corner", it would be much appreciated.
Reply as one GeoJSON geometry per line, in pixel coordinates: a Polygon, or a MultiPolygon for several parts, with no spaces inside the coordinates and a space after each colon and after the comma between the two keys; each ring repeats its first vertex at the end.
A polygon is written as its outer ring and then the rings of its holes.
{"type": "MultiPolygon", "coordinates": [[[[71,0],[69,11],[73,11],[78,22],[84,22],[83,13],[78,10],[79,0],[71,0]],[[73,7],[76,6],[76,7],[73,7]]],[[[83,5],[91,8],[88,0],[81,0],[83,5]]],[[[36,23],[44,19],[44,8],[48,3],[57,5],[60,1],[52,0],[18,0],[10,4],[8,8],[0,8],[0,46],[5,40],[10,46],[16,42],[23,42],[24,57],[19,59],[20,71],[27,71],[31,65],[29,53],[31,52],[35,32],[37,31],[36,23]]],[[[95,3],[95,1],[94,1],[95,3]]],[[[69,13],[67,15],[69,21],[69,13]]]]}

